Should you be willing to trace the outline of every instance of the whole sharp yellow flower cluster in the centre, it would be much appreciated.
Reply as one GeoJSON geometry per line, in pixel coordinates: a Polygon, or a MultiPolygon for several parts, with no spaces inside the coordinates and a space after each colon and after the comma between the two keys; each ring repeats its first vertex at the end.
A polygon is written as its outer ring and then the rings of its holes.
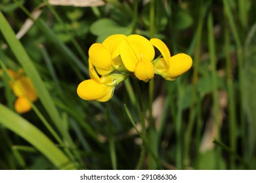
{"type": "Polygon", "coordinates": [[[160,39],[146,39],[140,35],[112,35],[89,48],[89,74],[77,87],[77,94],[85,100],[108,101],[116,86],[129,75],[148,82],[155,74],[175,80],[192,66],[186,54],[171,56],[160,39]],[[154,46],[162,58],[155,59],[154,46]]]}

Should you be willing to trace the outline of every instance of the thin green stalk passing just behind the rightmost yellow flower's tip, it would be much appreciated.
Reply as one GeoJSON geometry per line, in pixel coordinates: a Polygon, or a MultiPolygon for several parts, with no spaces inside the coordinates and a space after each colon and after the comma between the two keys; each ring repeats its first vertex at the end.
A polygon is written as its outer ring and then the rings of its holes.
{"type": "MultiPolygon", "coordinates": [[[[205,8],[207,8],[205,6],[205,8]]],[[[191,144],[191,135],[192,135],[192,129],[194,127],[194,103],[196,101],[196,87],[198,82],[198,70],[199,70],[199,63],[200,63],[200,52],[201,52],[201,39],[202,39],[202,27],[203,27],[203,3],[202,0],[200,0],[199,5],[199,17],[198,17],[198,27],[196,31],[196,50],[195,50],[195,56],[194,56],[194,63],[193,68],[194,72],[192,75],[192,93],[191,93],[191,103],[190,103],[190,113],[188,118],[188,127],[186,128],[186,134],[185,134],[185,144],[184,144],[184,165],[185,167],[190,165],[190,156],[189,156],[189,150],[190,150],[190,144],[191,144]]]]}

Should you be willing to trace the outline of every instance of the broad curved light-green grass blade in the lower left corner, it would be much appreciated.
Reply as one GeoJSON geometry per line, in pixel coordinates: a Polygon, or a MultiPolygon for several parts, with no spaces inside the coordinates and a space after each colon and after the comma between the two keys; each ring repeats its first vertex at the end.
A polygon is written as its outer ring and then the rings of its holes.
{"type": "Polygon", "coordinates": [[[30,122],[0,104],[0,123],[45,155],[58,169],[75,169],[67,156],[54,143],[30,122]]]}

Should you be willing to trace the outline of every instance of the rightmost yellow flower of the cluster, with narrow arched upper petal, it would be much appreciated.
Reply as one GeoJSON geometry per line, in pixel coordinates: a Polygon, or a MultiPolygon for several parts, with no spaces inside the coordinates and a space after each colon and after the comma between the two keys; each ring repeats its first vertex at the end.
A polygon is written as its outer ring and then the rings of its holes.
{"type": "Polygon", "coordinates": [[[171,56],[169,49],[160,39],[150,39],[150,42],[160,50],[163,58],[154,63],[156,74],[166,80],[175,80],[192,66],[192,58],[187,54],[171,56]]]}

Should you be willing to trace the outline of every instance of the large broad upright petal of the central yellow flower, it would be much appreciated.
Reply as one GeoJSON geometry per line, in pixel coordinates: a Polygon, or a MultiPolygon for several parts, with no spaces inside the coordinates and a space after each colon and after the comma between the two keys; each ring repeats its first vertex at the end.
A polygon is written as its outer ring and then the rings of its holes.
{"type": "Polygon", "coordinates": [[[140,61],[152,61],[155,56],[154,47],[140,35],[129,35],[120,44],[120,56],[125,67],[134,72],[140,61]]]}

